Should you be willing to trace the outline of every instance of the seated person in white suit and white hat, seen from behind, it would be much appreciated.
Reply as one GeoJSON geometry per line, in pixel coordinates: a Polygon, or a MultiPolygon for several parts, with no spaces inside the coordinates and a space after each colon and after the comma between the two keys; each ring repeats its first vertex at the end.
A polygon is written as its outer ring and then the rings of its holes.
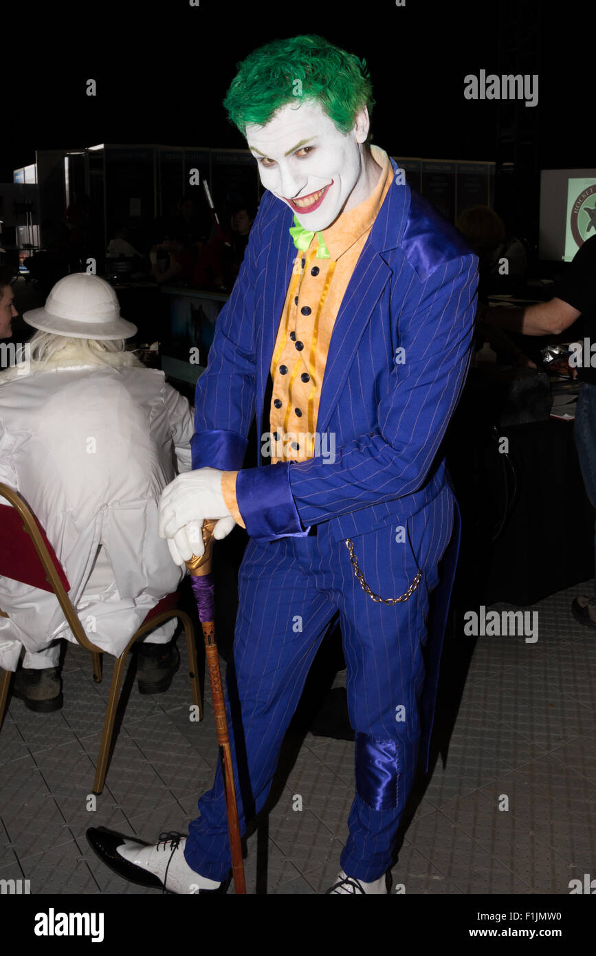
{"type": "MultiPolygon", "coordinates": [[[[92,643],[119,656],[184,570],[158,534],[161,490],[191,467],[193,421],[162,372],[124,351],[137,327],[96,275],[60,279],[38,331],[0,374],[0,482],[27,501],[53,545],[92,643]],[[29,351],[29,355],[27,352],[29,351]]],[[[0,499],[0,504],[8,504],[0,499]]],[[[60,639],[74,641],[57,598],[0,577],[0,667],[32,710],[62,706],[60,639]]],[[[176,619],[139,643],[138,688],[166,690],[180,663],[176,619]]]]}

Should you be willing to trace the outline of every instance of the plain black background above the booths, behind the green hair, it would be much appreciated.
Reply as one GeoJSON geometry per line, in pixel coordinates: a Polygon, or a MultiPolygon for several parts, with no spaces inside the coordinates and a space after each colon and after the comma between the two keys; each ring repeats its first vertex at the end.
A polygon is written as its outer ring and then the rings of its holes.
{"type": "Polygon", "coordinates": [[[5,5],[0,181],[36,148],[244,147],[222,106],[237,62],[275,37],[319,33],[366,57],[374,142],[397,156],[495,160],[496,207],[530,233],[540,168],[596,165],[588,11],[527,0],[5,5]],[[539,105],[466,100],[463,77],[480,69],[538,73],[539,105]]]}

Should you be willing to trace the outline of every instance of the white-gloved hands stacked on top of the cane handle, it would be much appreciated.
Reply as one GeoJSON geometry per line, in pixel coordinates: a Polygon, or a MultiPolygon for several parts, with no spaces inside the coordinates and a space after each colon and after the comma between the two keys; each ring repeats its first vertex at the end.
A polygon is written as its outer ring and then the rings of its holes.
{"type": "Polygon", "coordinates": [[[193,554],[202,556],[205,520],[217,520],[213,536],[218,540],[236,524],[223,501],[222,471],[218,468],[185,471],[161,492],[159,533],[168,539],[176,564],[183,564],[193,554]]]}

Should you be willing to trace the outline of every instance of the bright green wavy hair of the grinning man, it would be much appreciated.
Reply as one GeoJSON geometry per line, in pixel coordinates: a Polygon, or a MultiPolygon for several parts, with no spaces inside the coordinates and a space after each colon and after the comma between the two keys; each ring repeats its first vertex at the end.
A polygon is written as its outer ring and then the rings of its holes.
{"type": "MultiPolygon", "coordinates": [[[[238,73],[223,106],[246,135],[246,124],[265,126],[296,99],[314,99],[341,133],[353,129],[356,114],[374,105],[366,60],[359,60],[322,36],[293,36],[259,47],[237,64],[238,73]]],[[[369,138],[370,139],[370,138],[369,138]]]]}

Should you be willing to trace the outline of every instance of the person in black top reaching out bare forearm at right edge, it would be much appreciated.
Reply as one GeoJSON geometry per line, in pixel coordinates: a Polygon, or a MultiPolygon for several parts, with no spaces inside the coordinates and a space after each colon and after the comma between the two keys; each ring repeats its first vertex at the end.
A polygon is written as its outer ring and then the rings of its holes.
{"type": "MultiPolygon", "coordinates": [[[[489,309],[486,321],[524,336],[560,336],[577,322],[571,335],[578,348],[570,359],[573,378],[581,383],[575,411],[575,445],[585,493],[596,510],[596,356],[590,347],[590,342],[596,341],[596,236],[587,239],[576,252],[556,292],[549,302],[537,302],[524,309],[489,309]],[[586,342],[589,352],[585,350],[586,342]]],[[[596,528],[594,555],[596,564],[596,528]]],[[[596,591],[575,597],[571,611],[580,623],[596,628],[596,591]]]]}

